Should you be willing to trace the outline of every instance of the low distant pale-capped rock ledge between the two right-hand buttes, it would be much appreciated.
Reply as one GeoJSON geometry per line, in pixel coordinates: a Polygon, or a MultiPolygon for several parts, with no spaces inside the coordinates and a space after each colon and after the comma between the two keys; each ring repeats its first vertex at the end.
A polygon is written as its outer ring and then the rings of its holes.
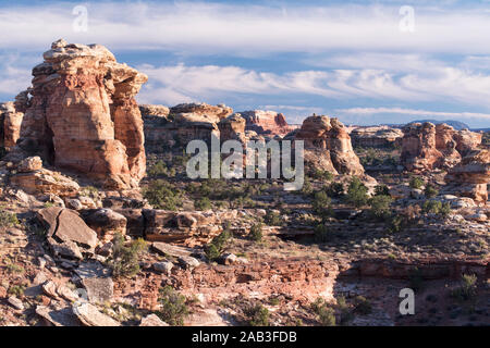
{"type": "Polygon", "coordinates": [[[351,132],[354,147],[383,148],[402,144],[403,132],[389,126],[358,127],[351,132]]]}

